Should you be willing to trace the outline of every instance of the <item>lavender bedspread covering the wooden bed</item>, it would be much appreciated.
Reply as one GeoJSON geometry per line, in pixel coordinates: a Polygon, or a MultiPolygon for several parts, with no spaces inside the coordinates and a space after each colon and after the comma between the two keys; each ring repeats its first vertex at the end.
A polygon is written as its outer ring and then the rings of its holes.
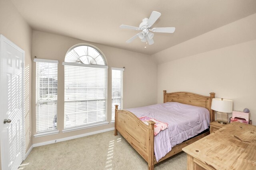
{"type": "Polygon", "coordinates": [[[126,109],[137,117],[152,117],[168,123],[168,129],[154,137],[156,161],[164,157],[172,147],[208,129],[210,113],[204,107],[167,102],[145,107],[126,109]]]}

